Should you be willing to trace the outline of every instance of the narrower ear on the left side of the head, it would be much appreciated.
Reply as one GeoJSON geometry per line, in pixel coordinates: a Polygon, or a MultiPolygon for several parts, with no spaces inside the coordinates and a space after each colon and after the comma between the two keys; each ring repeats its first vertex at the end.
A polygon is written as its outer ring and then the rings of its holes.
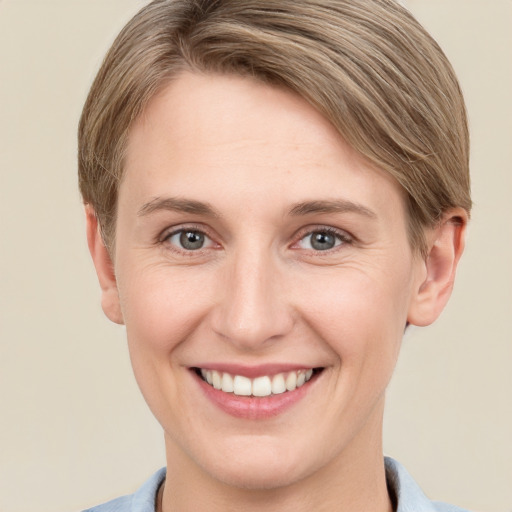
{"type": "Polygon", "coordinates": [[[101,286],[101,307],[107,317],[116,324],[123,324],[119,302],[116,275],[110,254],[103,243],[96,212],[90,205],[85,206],[87,244],[96,268],[101,286]]]}

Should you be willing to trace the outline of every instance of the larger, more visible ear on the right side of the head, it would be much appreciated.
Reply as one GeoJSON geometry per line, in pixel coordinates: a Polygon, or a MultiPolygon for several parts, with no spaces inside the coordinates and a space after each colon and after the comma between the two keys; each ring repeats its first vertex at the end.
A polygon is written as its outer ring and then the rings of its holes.
{"type": "Polygon", "coordinates": [[[407,321],[426,326],[443,311],[453,290],[457,264],[464,251],[468,215],[462,208],[450,210],[437,227],[427,232],[427,256],[421,261],[421,277],[415,284],[407,321]]]}

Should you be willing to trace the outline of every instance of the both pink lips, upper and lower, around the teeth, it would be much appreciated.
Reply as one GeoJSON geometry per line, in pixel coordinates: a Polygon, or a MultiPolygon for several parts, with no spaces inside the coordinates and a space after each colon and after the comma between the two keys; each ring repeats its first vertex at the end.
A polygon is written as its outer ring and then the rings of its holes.
{"type": "MultiPolygon", "coordinates": [[[[320,376],[320,374],[313,375],[308,382],[294,391],[287,391],[286,393],[265,397],[247,397],[237,396],[233,393],[225,393],[224,391],[215,389],[197,375],[196,368],[191,368],[190,373],[199,385],[204,396],[223,412],[236,418],[248,420],[264,420],[282,414],[290,407],[304,399],[320,376]]],[[[235,375],[256,378],[263,375],[273,375],[280,372],[300,370],[304,369],[304,366],[271,364],[257,367],[246,367],[233,364],[222,364],[205,365],[200,368],[224,371],[235,375]]],[[[307,368],[308,367],[306,367],[306,369],[307,368]]]]}

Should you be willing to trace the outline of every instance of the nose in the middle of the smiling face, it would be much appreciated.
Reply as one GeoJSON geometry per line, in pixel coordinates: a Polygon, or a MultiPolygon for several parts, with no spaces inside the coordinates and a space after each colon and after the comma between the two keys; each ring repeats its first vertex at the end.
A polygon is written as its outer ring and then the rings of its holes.
{"type": "Polygon", "coordinates": [[[279,261],[264,250],[240,251],[226,264],[214,331],[243,351],[257,351],[288,334],[293,308],[279,261]]]}

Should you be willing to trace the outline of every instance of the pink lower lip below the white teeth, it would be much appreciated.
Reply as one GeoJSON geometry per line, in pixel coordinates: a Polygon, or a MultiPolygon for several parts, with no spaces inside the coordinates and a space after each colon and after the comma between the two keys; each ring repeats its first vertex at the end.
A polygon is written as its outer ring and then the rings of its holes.
{"type": "Polygon", "coordinates": [[[308,382],[293,391],[265,397],[238,396],[215,389],[192,372],[206,397],[222,411],[237,418],[262,420],[277,416],[303,399],[316,381],[314,375],[308,382]]]}

